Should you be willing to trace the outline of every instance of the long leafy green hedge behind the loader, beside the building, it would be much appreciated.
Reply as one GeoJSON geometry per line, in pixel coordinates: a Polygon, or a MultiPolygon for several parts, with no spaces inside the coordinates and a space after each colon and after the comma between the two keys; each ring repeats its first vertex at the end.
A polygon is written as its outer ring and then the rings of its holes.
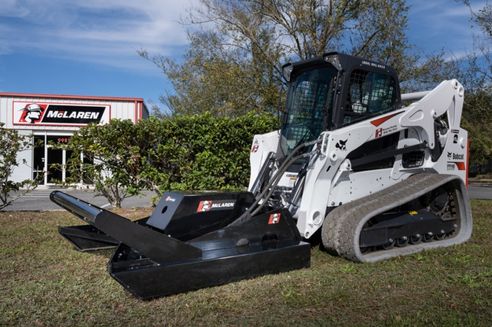
{"type": "MultiPolygon", "coordinates": [[[[88,126],[69,145],[75,150],[73,176],[80,171],[77,157],[84,151],[99,159],[87,169],[93,179],[94,174],[109,169],[113,180],[106,178],[104,183],[132,194],[144,188],[158,193],[244,188],[253,135],[272,131],[277,124],[269,114],[225,118],[207,113],[88,126]]],[[[95,178],[96,186],[103,188],[97,185],[100,182],[95,178]]]]}

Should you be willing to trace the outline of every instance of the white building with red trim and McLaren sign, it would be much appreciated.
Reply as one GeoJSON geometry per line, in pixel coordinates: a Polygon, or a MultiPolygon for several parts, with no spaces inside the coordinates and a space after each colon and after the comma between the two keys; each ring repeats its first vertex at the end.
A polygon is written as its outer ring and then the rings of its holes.
{"type": "Polygon", "coordinates": [[[33,146],[18,154],[19,166],[11,180],[40,178],[47,187],[65,182],[71,153],[53,144],[67,143],[87,124],[106,124],[111,119],[137,122],[148,115],[141,98],[0,92],[0,123],[33,136],[33,146]]]}

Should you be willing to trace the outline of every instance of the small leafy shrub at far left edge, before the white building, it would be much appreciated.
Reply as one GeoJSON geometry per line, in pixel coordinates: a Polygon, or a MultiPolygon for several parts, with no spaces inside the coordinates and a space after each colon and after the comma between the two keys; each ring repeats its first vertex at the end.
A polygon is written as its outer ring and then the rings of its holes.
{"type": "Polygon", "coordinates": [[[19,165],[17,153],[26,150],[30,145],[31,138],[19,135],[16,130],[4,128],[0,123],[0,210],[37,186],[37,183],[30,179],[22,182],[10,180],[14,167],[19,165]],[[12,196],[13,192],[19,191],[21,192],[16,196],[12,196]]]}

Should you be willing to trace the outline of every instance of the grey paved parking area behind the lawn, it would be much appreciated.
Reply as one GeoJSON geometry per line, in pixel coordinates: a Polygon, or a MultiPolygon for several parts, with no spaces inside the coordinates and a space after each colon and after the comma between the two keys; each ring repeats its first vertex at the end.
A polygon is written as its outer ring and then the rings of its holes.
{"type": "MultiPolygon", "coordinates": [[[[63,210],[50,200],[50,193],[54,191],[49,190],[34,190],[23,197],[17,199],[12,205],[3,209],[5,211],[49,211],[49,210],[63,210]]],[[[108,203],[105,197],[98,195],[92,190],[61,190],[70,195],[73,195],[79,199],[92,203],[102,208],[109,208],[111,205],[108,203]]],[[[492,185],[471,185],[469,188],[469,194],[471,199],[488,199],[492,200],[492,185]]],[[[132,196],[123,200],[123,208],[145,208],[150,207],[152,203],[152,197],[155,196],[153,192],[144,192],[140,196],[132,196]]]]}

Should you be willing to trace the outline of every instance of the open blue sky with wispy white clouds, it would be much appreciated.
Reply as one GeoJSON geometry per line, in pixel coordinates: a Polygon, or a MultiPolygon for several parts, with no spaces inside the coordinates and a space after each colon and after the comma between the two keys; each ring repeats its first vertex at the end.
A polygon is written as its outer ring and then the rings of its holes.
{"type": "MultiPolygon", "coordinates": [[[[473,8],[486,0],[471,1],[473,8]]],[[[408,39],[422,53],[473,48],[470,11],[454,0],[411,0],[408,39]]],[[[180,23],[199,0],[0,0],[0,92],[143,98],[172,85],[137,51],[182,57],[180,23]]]]}

